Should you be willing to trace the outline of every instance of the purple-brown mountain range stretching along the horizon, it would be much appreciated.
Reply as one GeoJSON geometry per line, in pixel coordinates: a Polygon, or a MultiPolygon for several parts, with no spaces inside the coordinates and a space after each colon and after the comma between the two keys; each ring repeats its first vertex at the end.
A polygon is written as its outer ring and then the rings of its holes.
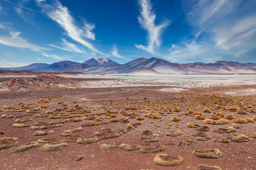
{"type": "Polygon", "coordinates": [[[118,64],[107,58],[91,58],[82,63],[71,61],[61,61],[53,64],[33,63],[9,70],[84,74],[255,74],[256,64],[225,61],[208,64],[203,62],[178,64],[156,57],[138,58],[126,64],[118,64]]]}

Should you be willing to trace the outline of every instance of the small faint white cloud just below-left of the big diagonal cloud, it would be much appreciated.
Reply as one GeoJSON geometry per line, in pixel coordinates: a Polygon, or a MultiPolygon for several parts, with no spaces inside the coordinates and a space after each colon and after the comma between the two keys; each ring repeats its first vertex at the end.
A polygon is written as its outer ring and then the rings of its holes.
{"type": "Polygon", "coordinates": [[[52,44],[50,46],[58,48],[60,50],[65,50],[65,51],[68,51],[68,52],[77,52],[77,53],[80,53],[80,54],[87,54],[84,49],[78,47],[77,45],[75,45],[71,42],[68,42],[68,40],[65,40],[63,38],[62,41],[63,42],[61,43],[61,46],[52,45],[52,44]]]}

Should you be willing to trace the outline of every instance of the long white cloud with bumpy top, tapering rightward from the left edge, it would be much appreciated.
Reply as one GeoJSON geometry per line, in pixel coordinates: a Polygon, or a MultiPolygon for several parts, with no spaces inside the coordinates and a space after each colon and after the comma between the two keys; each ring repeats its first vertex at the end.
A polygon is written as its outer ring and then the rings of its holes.
{"type": "Polygon", "coordinates": [[[8,45],[11,47],[27,48],[36,52],[48,50],[46,47],[40,47],[28,42],[24,38],[21,38],[21,32],[9,32],[11,36],[0,36],[0,44],[8,45]]]}

